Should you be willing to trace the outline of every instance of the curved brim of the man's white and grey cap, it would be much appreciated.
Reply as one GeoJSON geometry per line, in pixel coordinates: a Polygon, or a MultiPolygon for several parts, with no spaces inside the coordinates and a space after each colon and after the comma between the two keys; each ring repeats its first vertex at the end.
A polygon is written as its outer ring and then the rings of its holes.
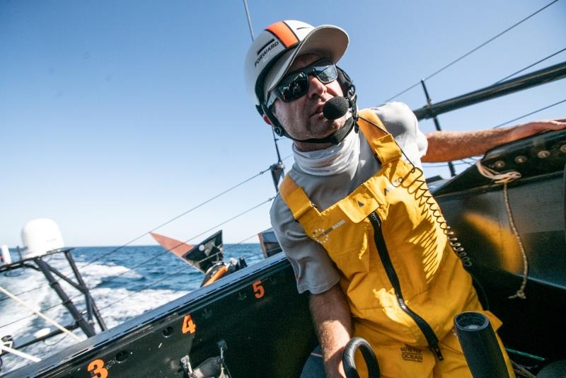
{"type": "Polygon", "coordinates": [[[335,64],[340,60],[346,48],[348,47],[348,35],[342,28],[334,25],[320,25],[311,30],[304,40],[293,50],[286,52],[271,67],[265,76],[264,91],[265,95],[269,93],[277,83],[287,74],[289,67],[293,64],[296,57],[305,54],[316,54],[322,58],[330,59],[335,64]]]}

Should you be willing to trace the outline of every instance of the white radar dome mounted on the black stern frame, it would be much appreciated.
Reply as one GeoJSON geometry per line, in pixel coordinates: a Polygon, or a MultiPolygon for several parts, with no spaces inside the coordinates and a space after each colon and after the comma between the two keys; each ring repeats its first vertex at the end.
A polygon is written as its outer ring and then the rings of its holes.
{"type": "Polygon", "coordinates": [[[54,249],[63,248],[63,236],[52,219],[33,219],[22,229],[23,245],[27,247],[24,258],[42,256],[54,249]]]}

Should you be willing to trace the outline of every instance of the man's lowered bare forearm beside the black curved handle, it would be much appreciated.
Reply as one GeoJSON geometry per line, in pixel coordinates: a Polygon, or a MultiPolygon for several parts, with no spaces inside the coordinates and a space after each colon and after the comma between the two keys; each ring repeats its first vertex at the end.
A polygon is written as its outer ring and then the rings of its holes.
{"type": "Polygon", "coordinates": [[[350,340],[352,319],[340,285],[322,294],[311,294],[310,307],[323,350],[326,377],[344,377],[342,351],[350,340]]]}

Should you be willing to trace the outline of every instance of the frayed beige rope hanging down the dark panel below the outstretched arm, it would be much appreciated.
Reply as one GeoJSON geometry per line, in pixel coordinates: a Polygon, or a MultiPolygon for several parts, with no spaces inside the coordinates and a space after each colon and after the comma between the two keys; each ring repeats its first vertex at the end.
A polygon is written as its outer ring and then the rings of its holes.
{"type": "Polygon", "coordinates": [[[523,241],[521,241],[521,236],[519,236],[519,231],[517,231],[517,228],[515,226],[513,214],[511,212],[511,206],[509,206],[509,195],[507,194],[507,183],[510,183],[512,181],[521,178],[521,173],[517,171],[499,173],[491,168],[488,168],[487,166],[484,166],[481,163],[481,161],[476,161],[475,166],[478,167],[478,171],[481,173],[482,176],[490,178],[496,184],[503,184],[503,199],[505,202],[505,210],[507,210],[507,217],[509,218],[509,225],[513,230],[513,234],[515,236],[515,239],[517,240],[517,244],[519,244],[519,248],[521,249],[521,256],[523,257],[523,282],[521,282],[521,287],[519,287],[519,290],[517,290],[515,294],[513,294],[508,298],[526,299],[525,287],[526,287],[526,278],[527,275],[529,274],[529,260],[526,257],[526,251],[523,246],[523,241]]]}

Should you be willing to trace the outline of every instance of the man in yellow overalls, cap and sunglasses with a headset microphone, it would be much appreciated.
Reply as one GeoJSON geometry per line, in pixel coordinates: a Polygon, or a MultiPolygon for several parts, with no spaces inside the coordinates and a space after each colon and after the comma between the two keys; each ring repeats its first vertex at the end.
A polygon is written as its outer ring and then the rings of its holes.
{"type": "Polygon", "coordinates": [[[258,35],[245,67],[262,118],[294,140],[295,164],[271,218],[299,292],[311,292],[326,374],[343,375],[342,350],[362,336],[383,377],[470,377],[452,319],[482,309],[437,205],[423,200],[420,160],[483,154],[566,124],[425,137],[402,103],[358,113],[352,81],[335,67],[347,44],[336,26],[280,21],[258,35]]]}

